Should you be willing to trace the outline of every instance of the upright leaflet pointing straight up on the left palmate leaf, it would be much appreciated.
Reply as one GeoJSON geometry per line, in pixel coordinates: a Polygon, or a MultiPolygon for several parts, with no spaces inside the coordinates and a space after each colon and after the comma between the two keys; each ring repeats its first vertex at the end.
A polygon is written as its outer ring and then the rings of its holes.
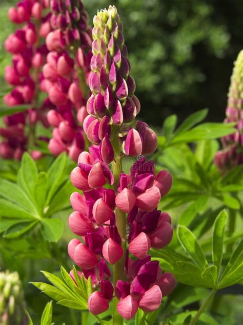
{"type": "Polygon", "coordinates": [[[17,183],[31,198],[33,198],[33,189],[37,176],[36,164],[31,156],[25,152],[21,160],[21,168],[18,171],[17,183]]]}

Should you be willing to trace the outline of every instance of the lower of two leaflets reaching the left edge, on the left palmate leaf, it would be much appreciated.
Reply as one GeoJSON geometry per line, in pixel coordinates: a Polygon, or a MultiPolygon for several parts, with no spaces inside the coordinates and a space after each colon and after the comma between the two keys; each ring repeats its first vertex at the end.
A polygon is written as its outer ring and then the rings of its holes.
{"type": "Polygon", "coordinates": [[[25,210],[19,205],[0,198],[0,216],[6,216],[14,219],[34,220],[36,216],[25,210]]]}

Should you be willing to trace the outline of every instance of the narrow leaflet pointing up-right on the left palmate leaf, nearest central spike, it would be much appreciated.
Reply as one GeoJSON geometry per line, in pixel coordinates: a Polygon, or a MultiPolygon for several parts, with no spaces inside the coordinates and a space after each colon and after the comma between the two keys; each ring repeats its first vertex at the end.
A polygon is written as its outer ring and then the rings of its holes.
{"type": "Polygon", "coordinates": [[[60,184],[63,182],[64,170],[66,166],[67,166],[67,155],[66,153],[62,153],[55,159],[55,161],[49,168],[48,196],[47,196],[46,205],[49,205],[51,198],[55,194],[60,184]]]}

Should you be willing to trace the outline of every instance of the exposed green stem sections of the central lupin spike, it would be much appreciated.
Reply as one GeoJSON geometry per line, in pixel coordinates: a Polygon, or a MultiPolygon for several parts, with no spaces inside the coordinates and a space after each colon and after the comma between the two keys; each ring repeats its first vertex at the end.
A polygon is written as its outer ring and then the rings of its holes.
{"type": "MultiPolygon", "coordinates": [[[[118,129],[112,125],[111,127],[111,142],[114,149],[115,159],[112,162],[112,171],[114,176],[114,191],[117,194],[119,186],[120,173],[122,172],[122,158],[120,157],[120,142],[118,136],[118,129]]],[[[122,210],[115,208],[116,227],[122,238],[123,257],[114,264],[113,269],[113,286],[115,287],[117,280],[124,280],[124,269],[126,260],[126,214],[122,210]]],[[[120,316],[116,310],[118,300],[113,299],[113,325],[123,325],[123,317],[120,316]]]]}

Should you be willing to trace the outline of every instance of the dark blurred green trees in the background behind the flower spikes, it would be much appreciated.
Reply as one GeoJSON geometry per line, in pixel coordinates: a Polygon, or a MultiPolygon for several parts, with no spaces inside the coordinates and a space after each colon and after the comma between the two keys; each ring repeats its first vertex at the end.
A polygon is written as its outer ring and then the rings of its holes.
{"type": "MultiPolygon", "coordinates": [[[[0,74],[9,58],[4,40],[13,26],[0,3],[0,74]]],[[[239,0],[84,0],[92,17],[115,5],[122,17],[126,44],[142,110],[140,119],[160,126],[176,113],[182,121],[208,107],[208,120],[225,117],[233,61],[243,47],[239,0]]],[[[4,85],[1,79],[1,85],[4,85]]]]}

